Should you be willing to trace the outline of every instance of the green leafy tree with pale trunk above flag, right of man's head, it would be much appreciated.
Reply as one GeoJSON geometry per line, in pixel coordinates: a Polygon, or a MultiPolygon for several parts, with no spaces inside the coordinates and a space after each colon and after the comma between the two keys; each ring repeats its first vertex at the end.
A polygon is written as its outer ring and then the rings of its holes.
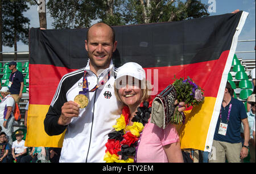
{"type": "Polygon", "coordinates": [[[172,22],[209,16],[208,6],[198,0],[127,0],[125,20],[128,24],[172,22]]]}

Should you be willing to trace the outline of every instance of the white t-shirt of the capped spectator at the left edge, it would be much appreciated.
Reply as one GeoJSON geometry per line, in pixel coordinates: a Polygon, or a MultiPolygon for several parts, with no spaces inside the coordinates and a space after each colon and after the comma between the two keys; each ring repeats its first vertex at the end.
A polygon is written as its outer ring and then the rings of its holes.
{"type": "MultiPolygon", "coordinates": [[[[6,116],[7,107],[13,107],[13,111],[14,111],[15,100],[13,99],[13,97],[11,97],[10,94],[7,95],[5,98],[3,98],[3,100],[0,103],[0,121],[3,121],[3,118],[5,118],[6,116]]],[[[10,117],[13,117],[13,112],[11,112],[10,117]]]]}

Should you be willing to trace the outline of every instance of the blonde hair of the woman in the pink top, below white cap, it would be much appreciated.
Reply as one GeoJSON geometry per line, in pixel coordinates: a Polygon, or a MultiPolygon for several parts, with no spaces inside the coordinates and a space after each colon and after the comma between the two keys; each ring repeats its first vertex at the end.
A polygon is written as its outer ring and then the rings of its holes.
{"type": "MultiPolygon", "coordinates": [[[[117,88],[117,80],[115,80],[114,83],[114,91],[115,91],[115,96],[117,97],[118,101],[121,101],[123,103],[123,101],[121,100],[121,97],[118,94],[118,88],[117,88]]],[[[147,82],[147,80],[139,80],[140,86],[142,86],[142,84],[144,84],[144,88],[141,88],[142,90],[142,97],[141,97],[141,101],[147,101],[148,98],[150,97],[150,91],[152,90],[151,84],[147,82]]]]}

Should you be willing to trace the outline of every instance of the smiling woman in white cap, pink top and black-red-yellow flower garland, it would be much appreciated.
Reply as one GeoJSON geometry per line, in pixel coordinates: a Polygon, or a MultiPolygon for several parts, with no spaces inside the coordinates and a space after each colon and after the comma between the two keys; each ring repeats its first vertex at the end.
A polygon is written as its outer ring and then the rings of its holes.
{"type": "MultiPolygon", "coordinates": [[[[161,129],[150,122],[149,92],[146,74],[140,65],[129,62],[119,67],[115,95],[124,107],[113,126],[116,131],[109,134],[106,143],[106,162],[183,162],[175,126],[161,129]]],[[[184,109],[181,107],[179,111],[184,109]]]]}

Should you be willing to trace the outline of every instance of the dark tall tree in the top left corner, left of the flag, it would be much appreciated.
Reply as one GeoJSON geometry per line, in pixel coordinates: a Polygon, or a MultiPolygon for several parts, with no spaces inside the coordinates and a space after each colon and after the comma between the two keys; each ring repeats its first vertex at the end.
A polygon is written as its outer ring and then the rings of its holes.
{"type": "Polygon", "coordinates": [[[30,19],[23,16],[29,9],[23,0],[2,0],[2,38],[3,45],[14,46],[17,60],[17,42],[28,44],[28,31],[30,19]]]}

